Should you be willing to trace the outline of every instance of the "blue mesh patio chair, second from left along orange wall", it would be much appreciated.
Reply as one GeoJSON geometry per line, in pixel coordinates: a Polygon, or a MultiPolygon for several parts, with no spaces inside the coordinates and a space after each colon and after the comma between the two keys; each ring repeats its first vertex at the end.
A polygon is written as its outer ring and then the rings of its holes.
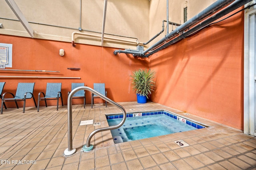
{"type": "Polygon", "coordinates": [[[35,101],[35,98],[34,98],[34,95],[33,95],[34,85],[35,85],[35,83],[18,83],[18,87],[17,87],[15,96],[14,96],[14,94],[12,94],[10,92],[4,93],[2,95],[1,114],[3,113],[4,102],[7,102],[7,101],[14,101],[15,104],[16,104],[17,109],[19,109],[17,101],[24,101],[23,113],[25,113],[26,99],[33,98],[35,106],[36,106],[36,101],[35,101]],[[13,98],[6,98],[7,94],[12,95],[13,98]]]}

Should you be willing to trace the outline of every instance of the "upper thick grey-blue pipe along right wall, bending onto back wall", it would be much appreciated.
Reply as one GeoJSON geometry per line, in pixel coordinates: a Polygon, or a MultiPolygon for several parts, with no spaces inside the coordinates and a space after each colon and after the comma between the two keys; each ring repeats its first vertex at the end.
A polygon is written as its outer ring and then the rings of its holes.
{"type": "MultiPolygon", "coordinates": [[[[164,38],[159,40],[154,45],[150,46],[145,51],[136,51],[136,53],[133,53],[132,51],[128,52],[126,50],[120,50],[119,49],[119,50],[114,51],[114,55],[116,55],[117,53],[130,53],[130,54],[139,55],[139,56],[142,56],[142,57],[148,57],[145,54],[148,53],[150,50],[154,49],[155,47],[158,47],[159,45],[166,42],[167,40],[170,40],[174,36],[177,36],[181,32],[184,32],[184,30],[190,28],[191,26],[196,25],[199,21],[207,18],[211,14],[214,14],[214,12],[220,10],[221,8],[230,4],[233,1],[234,0],[218,0],[218,1],[214,2],[212,5],[208,6],[202,12],[198,13],[196,16],[194,16],[193,18],[191,18],[190,20],[188,20],[187,22],[185,22],[184,24],[182,24],[181,26],[179,26],[178,28],[176,28],[175,30],[170,32],[170,34],[167,34],[164,38]]],[[[246,4],[246,3],[244,3],[244,4],[246,4]]]]}

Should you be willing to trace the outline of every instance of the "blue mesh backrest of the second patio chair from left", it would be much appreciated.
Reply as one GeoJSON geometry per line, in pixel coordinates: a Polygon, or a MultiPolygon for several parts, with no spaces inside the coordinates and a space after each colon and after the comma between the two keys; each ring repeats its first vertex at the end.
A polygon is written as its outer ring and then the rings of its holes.
{"type": "MultiPolygon", "coordinates": [[[[18,87],[16,90],[15,98],[24,99],[24,95],[27,92],[33,94],[35,83],[18,83],[18,87]]],[[[30,99],[32,95],[27,93],[26,99],[30,99]]]]}

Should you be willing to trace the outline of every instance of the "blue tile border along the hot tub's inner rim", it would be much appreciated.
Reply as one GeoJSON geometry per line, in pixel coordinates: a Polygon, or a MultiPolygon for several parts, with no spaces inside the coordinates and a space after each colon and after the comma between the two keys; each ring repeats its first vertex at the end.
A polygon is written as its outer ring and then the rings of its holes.
{"type": "MultiPolygon", "coordinates": [[[[128,113],[128,114],[126,114],[126,117],[134,117],[134,114],[136,114],[136,113],[128,113]]],[[[142,112],[142,116],[159,115],[159,114],[167,115],[167,116],[169,116],[169,117],[171,117],[173,119],[176,119],[176,120],[178,118],[176,115],[173,115],[172,113],[168,113],[167,111],[142,112]]],[[[106,115],[106,119],[118,119],[118,118],[123,118],[123,115],[106,115]]],[[[197,124],[197,123],[194,123],[192,121],[184,119],[184,122],[185,121],[186,121],[187,125],[190,125],[192,127],[195,127],[195,128],[198,128],[198,129],[206,128],[203,125],[200,125],[200,124],[197,124]]]]}

